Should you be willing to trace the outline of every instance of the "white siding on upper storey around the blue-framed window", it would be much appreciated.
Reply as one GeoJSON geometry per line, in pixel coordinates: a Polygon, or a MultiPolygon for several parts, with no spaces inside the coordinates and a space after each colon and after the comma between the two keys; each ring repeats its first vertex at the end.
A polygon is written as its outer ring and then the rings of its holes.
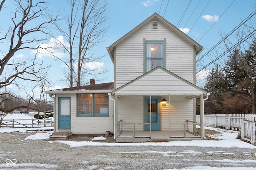
{"type": "Polygon", "coordinates": [[[162,22],[159,22],[157,31],[151,30],[151,22],[148,22],[116,46],[116,88],[144,74],[144,38],[166,38],[166,69],[194,82],[193,45],[162,22]]]}

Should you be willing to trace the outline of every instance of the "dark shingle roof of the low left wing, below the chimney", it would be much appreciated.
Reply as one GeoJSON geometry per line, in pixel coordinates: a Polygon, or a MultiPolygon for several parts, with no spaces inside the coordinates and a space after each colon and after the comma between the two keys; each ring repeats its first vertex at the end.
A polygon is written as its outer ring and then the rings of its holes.
{"type": "Polygon", "coordinates": [[[78,86],[70,88],[62,88],[62,91],[75,91],[75,90],[114,90],[114,82],[101,83],[88,86],[78,86]]]}

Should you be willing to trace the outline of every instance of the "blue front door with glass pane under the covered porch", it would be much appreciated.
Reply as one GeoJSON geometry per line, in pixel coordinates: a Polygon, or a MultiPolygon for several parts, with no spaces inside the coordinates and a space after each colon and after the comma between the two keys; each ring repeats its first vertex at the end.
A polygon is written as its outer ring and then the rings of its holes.
{"type": "MultiPolygon", "coordinates": [[[[146,97],[146,123],[150,123],[150,97],[146,97]]],[[[151,130],[159,131],[159,97],[151,97],[151,130]]],[[[146,124],[150,131],[150,124],[146,124]]]]}

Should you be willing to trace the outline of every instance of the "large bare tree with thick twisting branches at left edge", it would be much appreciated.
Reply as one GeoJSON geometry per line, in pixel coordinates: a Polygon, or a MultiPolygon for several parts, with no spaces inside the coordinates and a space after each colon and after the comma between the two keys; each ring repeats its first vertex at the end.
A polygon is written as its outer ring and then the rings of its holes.
{"type": "MultiPolygon", "coordinates": [[[[9,1],[10,2],[10,1],[9,1]]],[[[6,92],[6,86],[13,85],[20,88],[28,82],[37,82],[44,77],[39,76],[40,72],[48,66],[43,66],[42,61],[38,61],[36,55],[23,56],[15,58],[15,54],[20,54],[26,50],[38,50],[41,48],[38,43],[47,40],[51,34],[48,29],[52,22],[56,21],[57,16],[52,18],[46,7],[46,2],[40,0],[13,0],[13,6],[4,8],[5,0],[0,3],[0,14],[10,12],[10,22],[0,25],[0,43],[3,44],[0,49],[0,95],[10,95],[6,92]],[[4,11],[6,10],[6,11],[4,11]]],[[[4,16],[1,16],[4,17],[4,16]]],[[[2,98],[0,103],[8,100],[2,98]]],[[[29,103],[29,102],[28,102],[29,103]]],[[[5,110],[2,107],[0,111],[12,112],[17,108],[28,108],[18,106],[5,110]]]]}

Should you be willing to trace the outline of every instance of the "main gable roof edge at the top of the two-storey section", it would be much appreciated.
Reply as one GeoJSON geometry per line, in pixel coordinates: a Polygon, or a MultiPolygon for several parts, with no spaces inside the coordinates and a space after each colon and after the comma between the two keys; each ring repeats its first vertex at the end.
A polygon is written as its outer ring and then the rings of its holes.
{"type": "Polygon", "coordinates": [[[122,36],[120,39],[118,39],[116,42],[114,42],[112,45],[110,45],[109,47],[107,47],[107,51],[108,54],[110,55],[110,58],[112,61],[114,61],[114,48],[117,44],[119,44],[120,42],[122,42],[126,37],[128,37],[130,34],[132,34],[133,32],[135,32],[136,30],[138,30],[139,28],[141,28],[144,24],[146,24],[147,22],[151,21],[152,19],[157,18],[158,20],[162,21],[164,24],[166,24],[170,29],[174,30],[177,34],[179,34],[180,36],[184,37],[186,40],[188,40],[188,42],[190,42],[191,44],[194,45],[194,47],[196,48],[196,55],[198,55],[200,52],[202,52],[202,50],[204,50],[203,46],[201,46],[200,44],[198,44],[196,41],[194,41],[192,38],[190,38],[189,36],[187,36],[184,32],[182,32],[181,30],[179,30],[176,26],[174,26],[173,24],[171,24],[170,22],[168,22],[167,20],[165,20],[162,16],[160,16],[157,13],[154,13],[153,15],[151,15],[149,18],[147,18],[146,20],[144,20],[142,23],[140,23],[138,26],[136,26],[134,29],[132,29],[130,32],[126,33],[124,36],[122,36]]]}

